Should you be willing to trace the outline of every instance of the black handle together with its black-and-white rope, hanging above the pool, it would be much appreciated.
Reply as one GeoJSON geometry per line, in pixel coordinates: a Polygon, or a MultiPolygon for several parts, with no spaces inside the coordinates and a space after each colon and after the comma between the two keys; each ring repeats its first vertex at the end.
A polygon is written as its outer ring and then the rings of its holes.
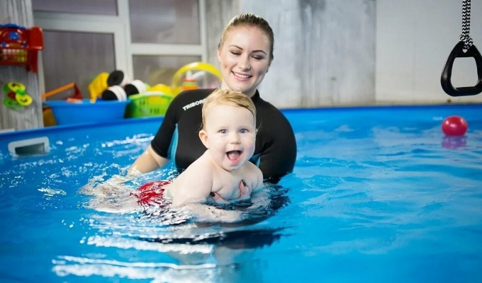
{"type": "Polygon", "coordinates": [[[459,37],[459,43],[457,43],[449,54],[447,63],[445,63],[442,70],[442,76],[440,77],[440,83],[442,89],[449,96],[475,96],[478,93],[482,93],[482,57],[478,52],[473,40],[469,36],[470,33],[470,0],[462,1],[462,33],[459,37]],[[472,57],[476,61],[477,67],[477,83],[475,86],[464,86],[461,88],[454,88],[452,86],[452,67],[454,67],[454,61],[456,58],[472,57]]]}

